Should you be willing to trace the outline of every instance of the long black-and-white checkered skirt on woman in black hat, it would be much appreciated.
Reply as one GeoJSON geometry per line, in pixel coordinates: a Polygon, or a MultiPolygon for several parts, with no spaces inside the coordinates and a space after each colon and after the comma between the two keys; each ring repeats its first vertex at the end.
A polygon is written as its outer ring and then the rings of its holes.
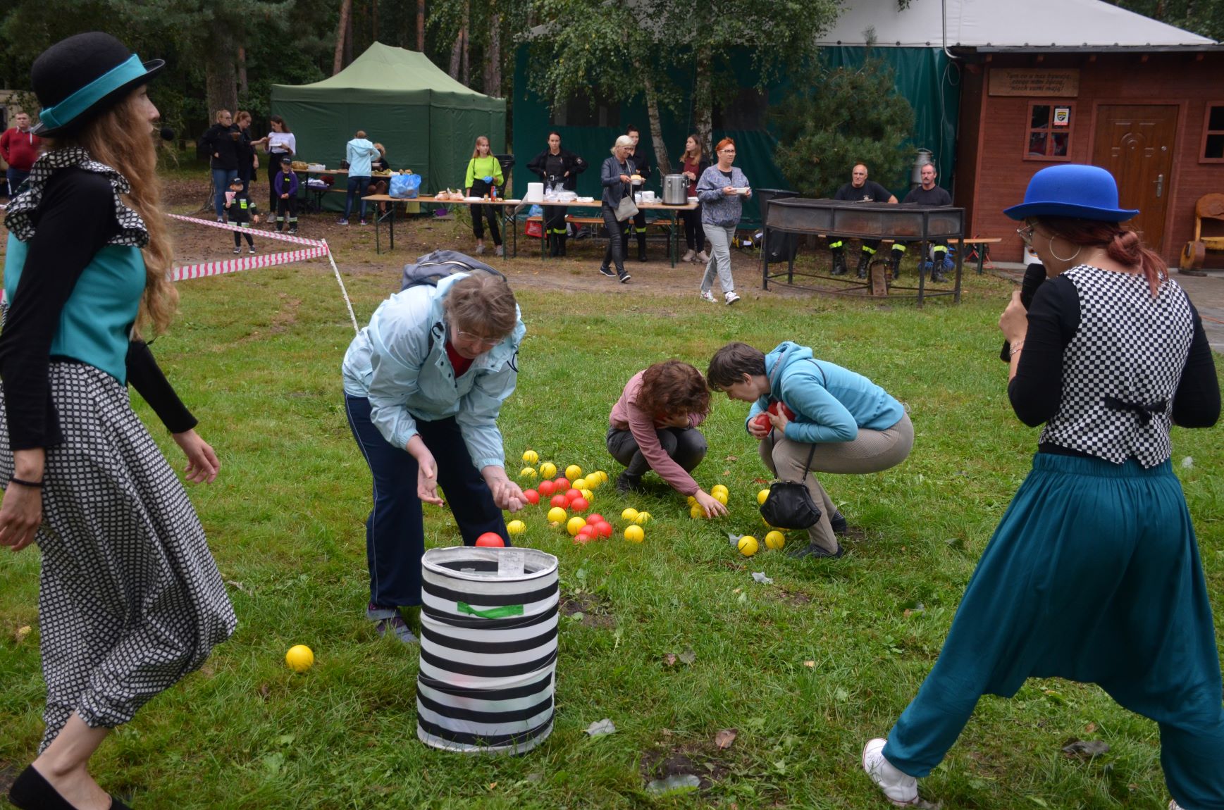
{"type": "MultiPolygon", "coordinates": [[[[98,368],[50,366],[64,443],[47,450],[38,618],[45,748],[73,712],[132,718],[198,668],[236,625],[187,493],[127,388],[98,368]]],[[[0,482],[13,471],[0,407],[0,482]]]]}

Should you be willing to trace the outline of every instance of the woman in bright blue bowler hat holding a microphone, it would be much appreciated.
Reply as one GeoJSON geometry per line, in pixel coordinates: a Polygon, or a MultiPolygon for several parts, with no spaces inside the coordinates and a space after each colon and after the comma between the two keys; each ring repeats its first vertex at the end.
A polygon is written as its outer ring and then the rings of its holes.
{"type": "Polygon", "coordinates": [[[1033,469],[978,563],[939,661],[863,767],[894,804],[956,741],[978,697],[1026,678],[1095,683],[1160,727],[1170,809],[1224,809],[1224,710],[1207,584],[1169,428],[1211,427],[1220,394],[1202,322],[1120,223],[1104,169],[1037,173],[1006,209],[1048,279],[1012,295],[1007,394],[1044,423],[1033,469]]]}

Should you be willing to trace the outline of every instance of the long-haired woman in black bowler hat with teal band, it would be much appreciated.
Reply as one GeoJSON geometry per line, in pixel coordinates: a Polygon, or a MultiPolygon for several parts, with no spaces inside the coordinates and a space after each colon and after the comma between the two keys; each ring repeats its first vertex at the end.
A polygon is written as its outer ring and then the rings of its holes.
{"type": "Polygon", "coordinates": [[[47,728],[9,793],[23,810],[124,808],[89,757],[235,625],[191,502],[127,399],[131,383],[186,454],[188,481],[217,476],[138,339],[165,329],[176,301],[146,94],[163,66],[84,33],[31,70],[47,150],[5,217],[0,333],[0,544],[42,551],[47,728]]]}

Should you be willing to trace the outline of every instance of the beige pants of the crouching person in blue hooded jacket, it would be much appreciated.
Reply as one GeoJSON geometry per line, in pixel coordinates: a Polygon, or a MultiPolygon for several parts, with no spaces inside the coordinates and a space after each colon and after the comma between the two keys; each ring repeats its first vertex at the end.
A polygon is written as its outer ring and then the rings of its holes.
{"type": "Polygon", "coordinates": [[[813,445],[792,442],[777,431],[770,432],[760,444],[761,460],[777,478],[799,481],[808,487],[812,500],[820,507],[820,520],[808,529],[814,546],[827,552],[837,551],[837,538],[829,522],[837,507],[820,486],[814,472],[865,474],[881,472],[906,460],[914,445],[914,426],[906,414],[901,421],[885,431],[858,428],[853,442],[829,442],[813,445]],[[777,440],[774,437],[778,437],[777,440]],[[812,466],[807,466],[812,453],[812,466]]]}

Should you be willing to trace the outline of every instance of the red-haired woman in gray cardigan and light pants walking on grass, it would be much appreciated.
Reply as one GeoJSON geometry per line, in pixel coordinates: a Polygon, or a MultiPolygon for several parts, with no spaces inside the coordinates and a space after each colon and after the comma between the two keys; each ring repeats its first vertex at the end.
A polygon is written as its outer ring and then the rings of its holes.
{"type": "Polygon", "coordinates": [[[714,274],[717,269],[718,284],[722,285],[722,297],[727,303],[739,300],[736,295],[736,283],[731,278],[731,243],[736,239],[736,226],[743,213],[741,197],[752,197],[748,177],[731,165],[736,159],[736,142],[731,138],[718,141],[715,149],[718,163],[701,173],[696,184],[696,197],[701,201],[701,228],[705,241],[710,243],[710,261],[701,277],[701,297],[711,303],[714,297],[714,274]]]}

